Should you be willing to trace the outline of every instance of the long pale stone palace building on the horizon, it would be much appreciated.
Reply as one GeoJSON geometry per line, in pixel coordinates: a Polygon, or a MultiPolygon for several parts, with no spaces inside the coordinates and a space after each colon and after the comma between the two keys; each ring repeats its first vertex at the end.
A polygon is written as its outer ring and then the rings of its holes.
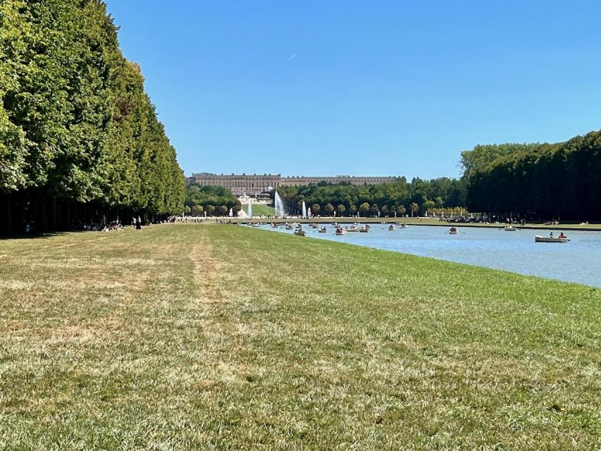
{"type": "Polygon", "coordinates": [[[352,175],[336,175],[335,177],[282,177],[281,174],[232,174],[217,175],[211,173],[192,174],[187,177],[188,185],[197,183],[198,185],[223,186],[231,190],[234,194],[258,194],[261,191],[277,189],[280,186],[305,186],[320,182],[326,183],[349,183],[351,185],[374,185],[378,183],[392,183],[395,177],[354,177],[352,175]]]}

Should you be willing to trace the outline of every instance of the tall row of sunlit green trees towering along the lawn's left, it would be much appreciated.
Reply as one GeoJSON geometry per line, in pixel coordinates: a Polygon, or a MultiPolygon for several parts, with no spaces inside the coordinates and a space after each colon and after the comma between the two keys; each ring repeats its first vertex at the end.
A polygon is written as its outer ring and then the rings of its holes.
{"type": "Polygon", "coordinates": [[[101,0],[0,2],[0,225],[181,211],[185,180],[101,0]]]}

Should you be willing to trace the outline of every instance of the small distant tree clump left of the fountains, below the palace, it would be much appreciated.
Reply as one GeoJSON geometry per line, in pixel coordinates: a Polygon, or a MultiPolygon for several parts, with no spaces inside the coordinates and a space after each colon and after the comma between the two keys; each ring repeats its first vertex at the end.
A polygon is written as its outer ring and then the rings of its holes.
{"type": "Polygon", "coordinates": [[[225,216],[230,209],[236,216],[242,209],[240,201],[228,188],[221,186],[200,186],[192,183],[186,188],[185,212],[194,216],[225,216]]]}

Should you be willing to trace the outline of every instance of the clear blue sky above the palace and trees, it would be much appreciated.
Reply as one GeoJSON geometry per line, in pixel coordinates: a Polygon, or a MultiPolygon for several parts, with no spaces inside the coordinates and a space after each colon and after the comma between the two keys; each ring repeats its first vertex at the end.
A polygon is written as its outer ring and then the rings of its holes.
{"type": "Polygon", "coordinates": [[[457,176],[601,128],[601,1],[107,4],[187,175],[457,176]]]}

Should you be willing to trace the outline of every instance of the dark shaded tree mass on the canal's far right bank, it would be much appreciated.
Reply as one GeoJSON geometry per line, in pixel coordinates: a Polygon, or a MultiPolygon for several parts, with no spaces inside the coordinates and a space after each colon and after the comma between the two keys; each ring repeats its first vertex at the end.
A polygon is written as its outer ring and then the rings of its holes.
{"type": "Polygon", "coordinates": [[[469,208],[535,219],[601,218],[601,131],[557,144],[513,144],[501,156],[497,149],[462,154],[470,163],[464,166],[469,208]]]}

